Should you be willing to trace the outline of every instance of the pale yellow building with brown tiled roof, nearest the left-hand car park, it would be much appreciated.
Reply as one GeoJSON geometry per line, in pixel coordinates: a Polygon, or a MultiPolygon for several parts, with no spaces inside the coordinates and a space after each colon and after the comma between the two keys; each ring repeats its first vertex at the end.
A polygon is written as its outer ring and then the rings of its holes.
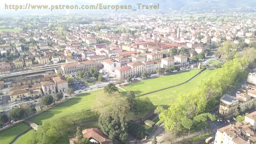
{"type": "Polygon", "coordinates": [[[10,98],[12,102],[21,101],[23,98],[29,96],[30,92],[28,90],[15,90],[10,92],[10,98]]]}

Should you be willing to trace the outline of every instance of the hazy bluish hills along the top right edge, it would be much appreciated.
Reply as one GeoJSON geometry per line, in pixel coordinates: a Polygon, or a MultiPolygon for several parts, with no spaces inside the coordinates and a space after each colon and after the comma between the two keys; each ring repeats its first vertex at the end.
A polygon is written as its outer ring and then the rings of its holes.
{"type": "MultiPolygon", "coordinates": [[[[137,6],[142,4],[160,4],[161,9],[212,11],[234,8],[256,7],[256,0],[122,0],[118,4],[137,6]]],[[[244,9],[246,10],[246,9],[244,9]]]]}

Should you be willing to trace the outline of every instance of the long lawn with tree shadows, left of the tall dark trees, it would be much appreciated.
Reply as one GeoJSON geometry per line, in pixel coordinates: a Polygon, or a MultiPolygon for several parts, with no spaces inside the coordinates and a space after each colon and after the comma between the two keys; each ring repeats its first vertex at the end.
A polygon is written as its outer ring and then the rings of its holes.
{"type": "Polygon", "coordinates": [[[31,121],[35,122],[36,124],[42,124],[42,122],[45,120],[68,116],[75,112],[80,112],[82,109],[89,110],[92,108],[96,96],[100,95],[102,92],[103,90],[96,90],[93,92],[83,93],[79,96],[75,96],[67,102],[64,102],[59,106],[48,110],[47,112],[31,118],[31,121]]]}

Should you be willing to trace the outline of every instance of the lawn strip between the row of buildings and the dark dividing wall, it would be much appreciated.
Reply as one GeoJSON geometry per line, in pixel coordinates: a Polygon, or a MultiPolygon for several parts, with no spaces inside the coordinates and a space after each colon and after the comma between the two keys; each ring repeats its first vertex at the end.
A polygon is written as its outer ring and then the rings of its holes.
{"type": "Polygon", "coordinates": [[[146,94],[148,92],[153,92],[155,90],[160,90],[163,88],[168,88],[170,86],[175,86],[186,82],[201,70],[194,69],[186,72],[181,72],[178,74],[171,74],[169,76],[160,76],[158,78],[150,78],[148,80],[142,80],[140,82],[130,83],[124,87],[124,90],[134,91],[136,95],[146,94]]]}

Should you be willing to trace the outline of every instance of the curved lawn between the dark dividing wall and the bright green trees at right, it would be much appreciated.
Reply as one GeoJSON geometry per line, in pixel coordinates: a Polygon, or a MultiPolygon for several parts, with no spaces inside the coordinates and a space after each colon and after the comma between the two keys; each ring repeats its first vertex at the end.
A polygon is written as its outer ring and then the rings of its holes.
{"type": "Polygon", "coordinates": [[[176,101],[179,93],[191,92],[196,86],[198,86],[202,82],[202,80],[210,78],[215,73],[216,70],[207,69],[186,84],[182,84],[181,86],[177,86],[174,88],[168,88],[166,90],[161,90],[159,92],[154,92],[152,94],[147,94],[141,96],[140,98],[148,97],[155,106],[167,106],[176,101]]]}

